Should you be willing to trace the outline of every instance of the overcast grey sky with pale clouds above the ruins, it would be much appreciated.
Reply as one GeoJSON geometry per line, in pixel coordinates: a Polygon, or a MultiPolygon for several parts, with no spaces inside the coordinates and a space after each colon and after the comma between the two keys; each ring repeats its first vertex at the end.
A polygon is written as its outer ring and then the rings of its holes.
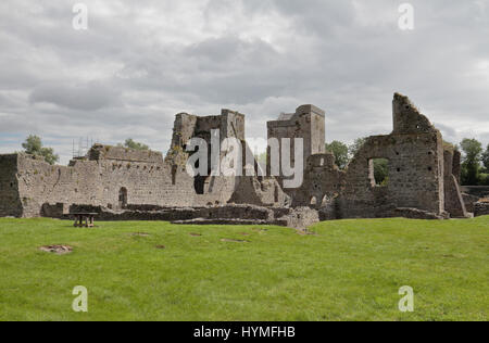
{"type": "Polygon", "coordinates": [[[326,139],[391,130],[394,91],[447,140],[489,143],[489,0],[418,0],[401,30],[394,0],[66,0],[0,2],[0,153],[39,135],[125,138],[166,152],[174,115],[247,114],[247,136],[304,103],[326,139]],[[80,1],[82,2],[82,1],[80,1]]]}

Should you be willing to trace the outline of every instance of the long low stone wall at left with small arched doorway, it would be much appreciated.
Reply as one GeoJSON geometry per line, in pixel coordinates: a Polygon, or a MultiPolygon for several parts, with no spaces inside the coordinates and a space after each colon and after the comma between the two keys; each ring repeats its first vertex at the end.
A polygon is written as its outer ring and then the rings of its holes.
{"type": "MultiPolygon", "coordinates": [[[[15,179],[23,211],[11,211],[9,215],[24,217],[39,216],[43,203],[92,204],[109,208],[125,204],[185,206],[192,205],[195,195],[192,179],[186,170],[179,169],[172,175],[171,166],[162,160],[160,163],[87,160],[74,161],[71,166],[51,166],[20,154],[15,179]],[[122,192],[125,192],[124,203],[122,192]]],[[[5,199],[3,193],[1,199],[5,199]]]]}

